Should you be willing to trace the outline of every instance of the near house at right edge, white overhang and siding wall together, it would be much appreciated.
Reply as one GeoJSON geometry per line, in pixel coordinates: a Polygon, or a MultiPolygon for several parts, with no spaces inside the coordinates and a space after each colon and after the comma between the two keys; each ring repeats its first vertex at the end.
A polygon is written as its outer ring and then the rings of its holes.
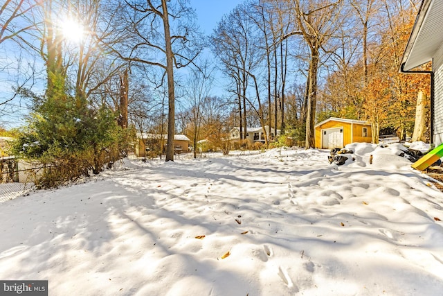
{"type": "Polygon", "coordinates": [[[443,143],[443,1],[423,0],[403,58],[403,73],[431,74],[431,143],[443,143]],[[433,63],[433,71],[413,71],[433,63]]]}

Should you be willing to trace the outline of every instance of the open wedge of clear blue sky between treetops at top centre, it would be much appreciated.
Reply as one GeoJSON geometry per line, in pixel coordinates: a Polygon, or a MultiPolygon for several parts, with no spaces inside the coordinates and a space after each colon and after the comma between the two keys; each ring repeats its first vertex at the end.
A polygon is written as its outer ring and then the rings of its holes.
{"type": "Polygon", "coordinates": [[[242,0],[190,0],[190,5],[198,15],[201,31],[206,35],[213,33],[213,29],[223,15],[228,14],[242,0]]]}

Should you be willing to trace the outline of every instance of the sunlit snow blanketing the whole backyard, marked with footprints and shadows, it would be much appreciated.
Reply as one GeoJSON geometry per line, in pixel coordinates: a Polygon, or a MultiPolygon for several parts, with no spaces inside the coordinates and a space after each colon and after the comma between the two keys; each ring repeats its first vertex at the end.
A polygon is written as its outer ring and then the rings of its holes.
{"type": "Polygon", "coordinates": [[[347,149],[344,166],[295,148],[125,159],[8,200],[0,279],[47,279],[50,295],[441,295],[443,193],[399,144],[347,149]]]}

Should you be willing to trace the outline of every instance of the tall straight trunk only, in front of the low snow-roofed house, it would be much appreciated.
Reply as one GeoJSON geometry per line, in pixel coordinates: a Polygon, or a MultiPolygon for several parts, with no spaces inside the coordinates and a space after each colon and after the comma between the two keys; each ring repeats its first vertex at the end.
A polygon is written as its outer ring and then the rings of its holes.
{"type": "Polygon", "coordinates": [[[167,2],[168,0],[161,0],[161,8],[163,10],[163,28],[165,31],[166,74],[168,75],[168,146],[166,147],[165,161],[173,162],[175,135],[174,53],[172,52],[167,2]]]}

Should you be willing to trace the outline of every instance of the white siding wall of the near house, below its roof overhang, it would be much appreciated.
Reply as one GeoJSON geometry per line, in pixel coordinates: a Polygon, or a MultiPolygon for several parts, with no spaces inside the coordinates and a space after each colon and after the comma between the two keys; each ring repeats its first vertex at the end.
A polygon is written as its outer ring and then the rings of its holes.
{"type": "Polygon", "coordinates": [[[443,143],[443,44],[435,54],[434,71],[434,143],[443,143]]]}

